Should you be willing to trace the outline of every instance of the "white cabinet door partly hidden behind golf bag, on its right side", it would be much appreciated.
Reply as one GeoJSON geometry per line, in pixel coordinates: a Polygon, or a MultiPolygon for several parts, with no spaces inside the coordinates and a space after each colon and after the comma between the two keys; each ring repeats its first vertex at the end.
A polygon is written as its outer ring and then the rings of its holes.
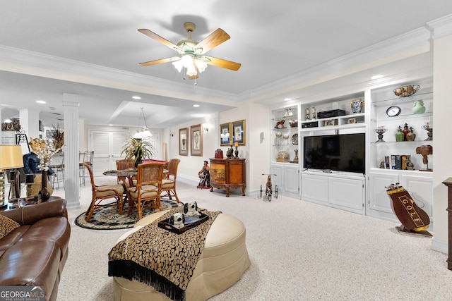
{"type": "MultiPolygon", "coordinates": [[[[430,175],[429,175],[430,176],[430,175]]],[[[427,212],[429,218],[432,220],[433,216],[433,179],[432,177],[412,176],[409,174],[402,174],[399,177],[400,185],[405,188],[420,208],[427,212]]]]}

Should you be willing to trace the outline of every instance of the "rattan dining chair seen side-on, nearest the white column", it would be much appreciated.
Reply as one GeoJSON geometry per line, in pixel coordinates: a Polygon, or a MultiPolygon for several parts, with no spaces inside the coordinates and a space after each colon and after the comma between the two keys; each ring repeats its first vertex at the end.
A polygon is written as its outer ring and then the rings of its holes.
{"type": "Polygon", "coordinates": [[[91,216],[93,216],[93,212],[95,209],[100,207],[112,207],[117,206],[119,209],[119,214],[123,214],[123,198],[122,195],[124,193],[124,188],[122,185],[102,185],[97,186],[94,183],[93,171],[90,168],[90,165],[86,162],[83,162],[88,173],[90,173],[91,180],[91,188],[93,190],[93,197],[91,199],[90,208],[86,211],[86,221],[90,221],[91,216]],[[114,202],[109,202],[107,204],[103,203],[104,199],[114,199],[114,202]]]}

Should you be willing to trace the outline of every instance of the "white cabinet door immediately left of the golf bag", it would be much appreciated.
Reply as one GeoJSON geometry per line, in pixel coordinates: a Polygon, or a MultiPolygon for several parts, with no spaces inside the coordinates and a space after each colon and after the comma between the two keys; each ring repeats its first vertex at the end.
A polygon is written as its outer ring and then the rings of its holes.
{"type": "Polygon", "coordinates": [[[398,174],[369,173],[369,210],[367,212],[370,216],[382,217],[380,213],[383,213],[391,214],[391,217],[396,218],[385,188],[392,183],[398,183],[398,174]]]}

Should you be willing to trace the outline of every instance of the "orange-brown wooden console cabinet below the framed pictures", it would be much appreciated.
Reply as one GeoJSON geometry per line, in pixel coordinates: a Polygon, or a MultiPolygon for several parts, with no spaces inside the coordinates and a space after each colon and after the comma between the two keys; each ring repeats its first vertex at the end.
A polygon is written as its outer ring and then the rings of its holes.
{"type": "Polygon", "coordinates": [[[242,188],[242,195],[245,195],[245,159],[210,158],[210,186],[210,191],[213,191],[213,188],[225,189],[227,197],[230,188],[242,188]]]}

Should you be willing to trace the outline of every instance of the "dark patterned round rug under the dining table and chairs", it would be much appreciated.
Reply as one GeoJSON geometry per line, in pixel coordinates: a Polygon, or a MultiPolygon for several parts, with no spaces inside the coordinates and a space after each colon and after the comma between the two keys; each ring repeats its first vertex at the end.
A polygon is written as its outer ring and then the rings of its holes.
{"type": "MultiPolygon", "coordinates": [[[[176,208],[182,206],[182,203],[177,203],[176,200],[162,199],[162,209],[168,210],[171,208],[176,208]]],[[[138,221],[138,212],[136,209],[133,210],[131,216],[127,215],[129,210],[128,204],[124,204],[124,214],[119,214],[117,207],[102,207],[95,209],[93,216],[90,221],[85,220],[85,212],[77,216],[76,225],[82,228],[88,228],[93,230],[117,230],[132,228],[133,225],[138,221]]],[[[143,210],[143,217],[153,214],[158,210],[153,210],[146,208],[143,210]]]]}

